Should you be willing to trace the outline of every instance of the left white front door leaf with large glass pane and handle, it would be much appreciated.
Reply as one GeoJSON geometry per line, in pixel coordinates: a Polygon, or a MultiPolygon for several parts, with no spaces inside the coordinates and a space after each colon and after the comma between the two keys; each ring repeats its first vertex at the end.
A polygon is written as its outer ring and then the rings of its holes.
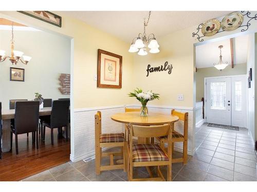
{"type": "Polygon", "coordinates": [[[206,122],[231,125],[231,78],[209,78],[206,87],[206,122]]]}

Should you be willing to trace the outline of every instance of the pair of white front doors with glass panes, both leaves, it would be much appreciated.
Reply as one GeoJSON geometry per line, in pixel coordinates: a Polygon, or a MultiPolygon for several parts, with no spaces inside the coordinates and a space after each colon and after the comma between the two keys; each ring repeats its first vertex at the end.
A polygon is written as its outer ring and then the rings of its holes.
{"type": "Polygon", "coordinates": [[[206,122],[246,127],[246,75],[205,78],[206,122]]]}

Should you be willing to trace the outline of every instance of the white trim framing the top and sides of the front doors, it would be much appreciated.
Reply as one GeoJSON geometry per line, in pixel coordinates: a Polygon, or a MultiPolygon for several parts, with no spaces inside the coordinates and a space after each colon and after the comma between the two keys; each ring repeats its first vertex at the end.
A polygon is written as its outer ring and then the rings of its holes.
{"type": "MultiPolygon", "coordinates": [[[[216,77],[205,77],[204,78],[204,97],[205,97],[205,105],[204,105],[204,111],[205,111],[205,117],[204,117],[204,121],[206,122],[206,82],[207,79],[211,79],[211,78],[225,78],[225,77],[245,77],[246,79],[246,83],[247,83],[247,74],[243,74],[243,75],[225,75],[225,76],[216,76],[216,77]]],[[[246,84],[246,99],[248,98],[248,85],[246,84]]],[[[246,119],[248,119],[248,102],[246,102],[246,119]]],[[[246,123],[246,128],[248,129],[248,124],[246,123]]]]}

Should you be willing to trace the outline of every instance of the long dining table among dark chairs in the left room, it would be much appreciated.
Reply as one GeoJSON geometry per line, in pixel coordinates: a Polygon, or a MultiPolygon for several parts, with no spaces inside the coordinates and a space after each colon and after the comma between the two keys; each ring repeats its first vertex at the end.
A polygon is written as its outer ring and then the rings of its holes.
{"type": "MultiPolygon", "coordinates": [[[[39,116],[51,115],[52,108],[43,108],[39,110],[39,116]]],[[[3,110],[2,120],[3,120],[3,135],[2,135],[2,151],[9,152],[11,149],[11,119],[14,119],[15,110],[3,110]]],[[[28,119],[29,120],[29,119],[28,119]]]]}

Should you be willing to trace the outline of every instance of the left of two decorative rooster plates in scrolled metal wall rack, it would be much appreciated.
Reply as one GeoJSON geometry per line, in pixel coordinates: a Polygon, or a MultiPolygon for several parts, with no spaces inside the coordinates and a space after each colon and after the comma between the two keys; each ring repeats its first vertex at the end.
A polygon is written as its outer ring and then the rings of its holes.
{"type": "Polygon", "coordinates": [[[212,36],[215,33],[217,33],[220,28],[221,28],[221,22],[213,18],[205,22],[205,24],[201,28],[201,33],[203,33],[203,35],[205,36],[212,36]]]}

